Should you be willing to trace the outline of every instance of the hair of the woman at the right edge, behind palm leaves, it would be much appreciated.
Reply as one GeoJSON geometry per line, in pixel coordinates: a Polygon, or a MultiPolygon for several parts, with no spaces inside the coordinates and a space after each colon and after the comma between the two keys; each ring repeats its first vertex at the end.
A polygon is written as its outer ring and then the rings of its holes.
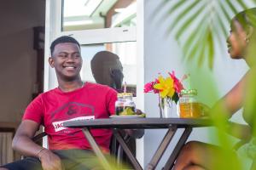
{"type": "MultiPolygon", "coordinates": [[[[249,26],[256,28],[256,8],[248,8],[241,11],[232,20],[237,20],[245,31],[249,26]]],[[[233,22],[231,22],[230,27],[233,28],[233,22]]]]}

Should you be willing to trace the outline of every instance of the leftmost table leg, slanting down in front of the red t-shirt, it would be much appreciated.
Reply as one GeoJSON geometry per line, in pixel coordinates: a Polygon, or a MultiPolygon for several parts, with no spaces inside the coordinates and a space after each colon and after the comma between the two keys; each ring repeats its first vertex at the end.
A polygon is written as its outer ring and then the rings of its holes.
{"type": "Polygon", "coordinates": [[[102,154],[102,150],[99,148],[98,144],[96,144],[95,139],[92,137],[89,128],[84,127],[82,128],[82,130],[83,130],[84,136],[90,143],[92,150],[94,150],[96,156],[99,158],[99,161],[102,163],[102,167],[106,170],[112,169],[106,157],[102,154]]]}

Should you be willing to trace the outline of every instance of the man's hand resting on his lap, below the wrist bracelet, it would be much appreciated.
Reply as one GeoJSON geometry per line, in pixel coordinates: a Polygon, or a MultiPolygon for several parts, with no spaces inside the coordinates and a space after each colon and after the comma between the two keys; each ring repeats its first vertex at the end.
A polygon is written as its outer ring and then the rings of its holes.
{"type": "Polygon", "coordinates": [[[44,170],[63,170],[61,159],[50,150],[44,149],[38,154],[44,170]]]}

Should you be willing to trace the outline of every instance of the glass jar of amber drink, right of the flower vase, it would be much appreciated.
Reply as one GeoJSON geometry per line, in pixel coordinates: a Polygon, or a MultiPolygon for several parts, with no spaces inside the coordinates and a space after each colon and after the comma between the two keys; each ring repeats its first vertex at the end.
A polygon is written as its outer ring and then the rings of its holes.
{"type": "Polygon", "coordinates": [[[181,91],[178,112],[181,118],[201,117],[201,104],[197,100],[195,89],[183,89],[181,91]]]}

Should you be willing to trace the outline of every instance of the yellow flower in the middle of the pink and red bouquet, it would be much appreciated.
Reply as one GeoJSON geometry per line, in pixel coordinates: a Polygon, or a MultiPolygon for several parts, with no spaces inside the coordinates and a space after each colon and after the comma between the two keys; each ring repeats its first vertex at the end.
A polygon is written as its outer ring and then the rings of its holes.
{"type": "Polygon", "coordinates": [[[170,97],[172,98],[173,94],[175,93],[174,83],[171,77],[167,77],[166,79],[162,76],[158,77],[158,83],[154,84],[154,88],[160,90],[160,97],[165,98],[170,97]]]}

